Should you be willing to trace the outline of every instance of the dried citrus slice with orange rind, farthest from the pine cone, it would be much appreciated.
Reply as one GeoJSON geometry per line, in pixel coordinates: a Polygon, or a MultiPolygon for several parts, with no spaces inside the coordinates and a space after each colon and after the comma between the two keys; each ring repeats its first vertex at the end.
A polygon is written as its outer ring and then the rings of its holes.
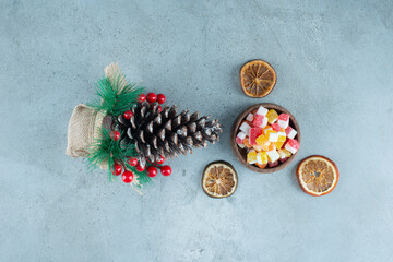
{"type": "Polygon", "coordinates": [[[320,196],[332,192],[340,175],[334,162],[324,156],[313,155],[300,162],[296,176],[306,193],[320,196]]]}

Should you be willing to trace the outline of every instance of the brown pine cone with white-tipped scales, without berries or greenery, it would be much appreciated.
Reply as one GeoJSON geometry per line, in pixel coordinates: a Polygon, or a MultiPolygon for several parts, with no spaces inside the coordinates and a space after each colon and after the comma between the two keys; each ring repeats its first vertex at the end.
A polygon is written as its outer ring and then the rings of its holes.
{"type": "Polygon", "coordinates": [[[151,162],[160,157],[169,158],[187,152],[192,147],[206,147],[207,142],[218,141],[223,130],[218,120],[209,120],[210,116],[200,118],[199,112],[190,114],[189,109],[177,114],[177,106],[165,107],[158,111],[158,104],[146,102],[135,104],[131,108],[133,117],[130,120],[119,116],[114,121],[114,130],[122,133],[122,146],[135,145],[141,165],[146,158],[151,162]]]}

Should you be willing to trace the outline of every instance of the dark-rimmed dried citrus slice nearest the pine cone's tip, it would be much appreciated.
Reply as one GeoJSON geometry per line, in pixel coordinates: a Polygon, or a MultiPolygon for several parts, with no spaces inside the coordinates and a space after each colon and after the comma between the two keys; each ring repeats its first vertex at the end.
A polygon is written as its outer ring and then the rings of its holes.
{"type": "Polygon", "coordinates": [[[237,172],[229,163],[213,162],[203,171],[202,188],[212,198],[226,198],[235,192],[237,181],[237,172]]]}

